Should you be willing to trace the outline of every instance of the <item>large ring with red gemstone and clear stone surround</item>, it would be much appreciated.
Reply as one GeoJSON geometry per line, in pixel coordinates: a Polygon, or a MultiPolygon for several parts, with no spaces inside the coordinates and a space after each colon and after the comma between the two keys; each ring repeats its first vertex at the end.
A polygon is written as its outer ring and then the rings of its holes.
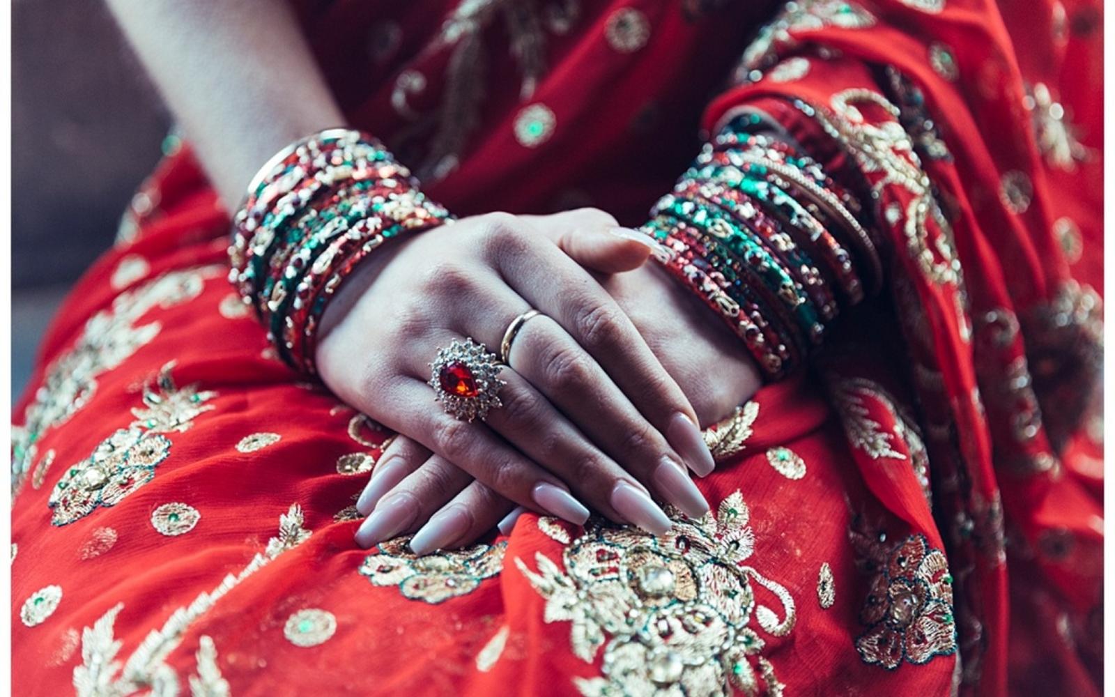
{"type": "Polygon", "coordinates": [[[503,365],[472,337],[464,341],[454,339],[448,347],[437,349],[437,357],[429,366],[428,385],[453,418],[484,420],[488,409],[503,406],[498,396],[500,388],[506,385],[498,377],[503,365]]]}

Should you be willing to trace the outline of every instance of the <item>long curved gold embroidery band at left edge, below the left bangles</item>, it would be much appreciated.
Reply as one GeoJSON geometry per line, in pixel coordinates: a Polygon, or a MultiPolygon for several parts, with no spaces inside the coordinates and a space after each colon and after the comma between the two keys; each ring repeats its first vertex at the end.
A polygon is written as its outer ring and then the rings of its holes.
{"type": "Polygon", "coordinates": [[[203,267],[162,275],[145,285],[120,293],[113,307],[86,322],[85,331],[69,351],[54,360],[35,400],[23,413],[23,425],[12,428],[12,494],[18,493],[36,458],[36,444],[50,428],[72,417],[93,399],[97,378],[158,335],[157,320],[139,325],[153,308],[169,308],[193,300],[207,279],[223,275],[221,265],[203,267]]]}

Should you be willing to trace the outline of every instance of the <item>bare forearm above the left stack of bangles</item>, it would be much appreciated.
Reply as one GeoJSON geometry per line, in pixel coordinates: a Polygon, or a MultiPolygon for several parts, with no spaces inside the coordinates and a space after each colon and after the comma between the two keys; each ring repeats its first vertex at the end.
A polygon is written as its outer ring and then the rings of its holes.
{"type": "Polygon", "coordinates": [[[279,0],[106,0],[225,205],[287,144],[343,116],[279,0]]]}

